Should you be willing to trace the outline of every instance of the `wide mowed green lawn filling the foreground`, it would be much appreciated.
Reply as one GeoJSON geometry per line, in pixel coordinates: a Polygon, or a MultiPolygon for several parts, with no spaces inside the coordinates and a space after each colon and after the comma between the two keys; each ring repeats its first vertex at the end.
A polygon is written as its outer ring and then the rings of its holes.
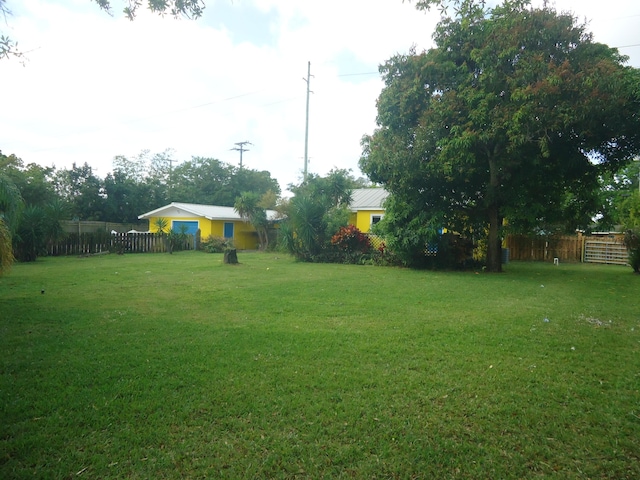
{"type": "Polygon", "coordinates": [[[629,268],[239,260],[0,278],[0,478],[640,478],[629,268]]]}

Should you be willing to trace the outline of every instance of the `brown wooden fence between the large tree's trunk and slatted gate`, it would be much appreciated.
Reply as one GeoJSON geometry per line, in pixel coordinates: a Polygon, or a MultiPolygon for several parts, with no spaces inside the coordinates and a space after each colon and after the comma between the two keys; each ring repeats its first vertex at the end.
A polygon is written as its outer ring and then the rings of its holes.
{"type": "Polygon", "coordinates": [[[509,235],[506,248],[510,260],[581,262],[583,235],[536,236],[509,235]]]}

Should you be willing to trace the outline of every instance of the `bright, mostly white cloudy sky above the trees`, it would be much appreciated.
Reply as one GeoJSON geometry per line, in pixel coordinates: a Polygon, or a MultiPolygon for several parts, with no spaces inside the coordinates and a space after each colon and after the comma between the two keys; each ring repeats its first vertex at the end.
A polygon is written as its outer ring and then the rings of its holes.
{"type": "MultiPolygon", "coordinates": [[[[535,2],[534,2],[535,3],[535,2]]],[[[640,68],[637,0],[556,0],[595,41],[640,68]]],[[[0,60],[0,150],[25,164],[88,163],[170,149],[176,163],[215,158],[268,170],[283,192],[304,170],[350,169],[373,133],[378,66],[432,46],[437,12],[402,0],[205,0],[197,20],[140,10],[127,20],[90,0],[7,0],[0,31],[24,62],[0,60]]]]}

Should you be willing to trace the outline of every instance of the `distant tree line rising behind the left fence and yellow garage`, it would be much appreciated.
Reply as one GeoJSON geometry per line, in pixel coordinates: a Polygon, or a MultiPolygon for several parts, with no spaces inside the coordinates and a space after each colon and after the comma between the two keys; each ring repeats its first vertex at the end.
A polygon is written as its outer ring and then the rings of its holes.
{"type": "Polygon", "coordinates": [[[117,156],[104,178],[87,163],[56,169],[25,165],[0,152],[0,174],[17,187],[25,206],[57,202],[64,218],[116,223],[135,223],[138,215],[170,202],[233,206],[243,192],[280,194],[278,181],[267,171],[202,157],[177,164],[169,151],[117,156]]]}

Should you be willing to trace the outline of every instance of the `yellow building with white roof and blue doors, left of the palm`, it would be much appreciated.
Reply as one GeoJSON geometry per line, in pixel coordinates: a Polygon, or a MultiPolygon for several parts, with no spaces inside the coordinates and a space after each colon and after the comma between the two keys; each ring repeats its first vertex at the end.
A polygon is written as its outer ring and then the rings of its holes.
{"type": "MultiPolygon", "coordinates": [[[[267,219],[275,220],[277,212],[267,210],[267,219]]],[[[149,230],[156,232],[158,218],[164,218],[171,230],[195,234],[200,230],[201,238],[209,235],[233,240],[233,244],[240,250],[254,250],[258,248],[258,233],[255,228],[245,222],[233,207],[217,205],[199,205],[195,203],[172,202],[138,216],[139,219],[149,220],[149,230]]]]}

